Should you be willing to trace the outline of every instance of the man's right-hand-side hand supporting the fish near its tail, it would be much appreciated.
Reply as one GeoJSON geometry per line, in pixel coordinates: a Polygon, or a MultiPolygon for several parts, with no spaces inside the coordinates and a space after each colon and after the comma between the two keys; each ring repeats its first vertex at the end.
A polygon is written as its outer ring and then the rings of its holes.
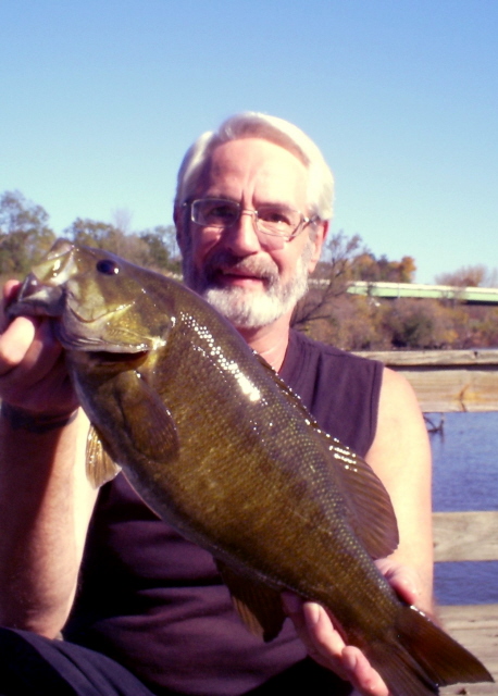
{"type": "MultiPolygon", "coordinates": [[[[389,559],[382,559],[376,566],[401,599],[408,604],[416,602],[420,593],[416,573],[389,559]]],[[[284,609],[310,657],[340,679],[351,682],[358,694],[389,696],[389,689],[378,672],[359,648],[345,644],[323,607],[302,601],[291,593],[283,593],[282,597],[284,609]]]]}

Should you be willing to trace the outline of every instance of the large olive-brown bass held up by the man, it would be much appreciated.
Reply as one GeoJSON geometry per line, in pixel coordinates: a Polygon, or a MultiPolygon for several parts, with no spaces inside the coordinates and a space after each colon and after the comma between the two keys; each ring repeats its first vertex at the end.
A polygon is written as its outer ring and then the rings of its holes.
{"type": "Polygon", "coordinates": [[[59,239],[8,312],[53,322],[91,423],[89,477],[100,485],[122,468],[210,551],[249,630],[273,639],[290,591],[326,608],[393,696],[493,681],[378,572],[374,559],[394,551],[398,531],[372,469],[202,298],[59,239]]]}

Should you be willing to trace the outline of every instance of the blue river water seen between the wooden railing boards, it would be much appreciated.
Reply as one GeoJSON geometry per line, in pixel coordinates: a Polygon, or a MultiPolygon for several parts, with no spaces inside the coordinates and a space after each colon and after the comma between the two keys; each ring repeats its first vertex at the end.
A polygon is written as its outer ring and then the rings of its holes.
{"type": "MultiPolygon", "coordinates": [[[[498,412],[446,413],[431,445],[434,510],[498,510],[498,412]]],[[[498,561],[437,563],[435,593],[445,605],[498,602],[498,561]]]]}

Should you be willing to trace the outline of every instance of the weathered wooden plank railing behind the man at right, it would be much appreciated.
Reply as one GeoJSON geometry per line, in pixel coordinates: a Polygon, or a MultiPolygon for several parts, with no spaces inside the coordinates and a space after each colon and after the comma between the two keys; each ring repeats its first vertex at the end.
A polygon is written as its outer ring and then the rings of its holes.
{"type": "MultiPolygon", "coordinates": [[[[357,355],[381,360],[404,374],[424,412],[498,411],[498,350],[357,355]]],[[[496,496],[498,507],[498,485],[496,496]]],[[[433,522],[436,562],[498,561],[498,511],[435,512],[433,522]]],[[[498,682],[498,604],[446,606],[438,612],[445,629],[474,652],[498,682]]],[[[441,694],[487,696],[498,694],[498,684],[447,686],[441,694]]]]}

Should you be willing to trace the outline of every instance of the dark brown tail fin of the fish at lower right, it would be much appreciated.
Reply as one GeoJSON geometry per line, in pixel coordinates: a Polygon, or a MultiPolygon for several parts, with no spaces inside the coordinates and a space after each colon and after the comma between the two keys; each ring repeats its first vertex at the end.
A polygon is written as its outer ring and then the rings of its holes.
{"type": "Polygon", "coordinates": [[[395,696],[431,696],[448,684],[494,681],[477,658],[415,607],[400,608],[395,632],[385,655],[376,646],[372,658],[395,696]]]}

